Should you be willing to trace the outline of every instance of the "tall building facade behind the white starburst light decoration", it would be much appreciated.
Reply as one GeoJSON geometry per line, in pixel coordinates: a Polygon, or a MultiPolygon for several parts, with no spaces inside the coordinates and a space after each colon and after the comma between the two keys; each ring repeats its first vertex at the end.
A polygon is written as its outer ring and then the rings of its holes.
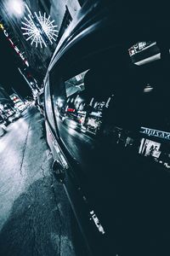
{"type": "MultiPolygon", "coordinates": [[[[81,8],[82,1],[78,0],[17,0],[22,3],[23,8],[14,9],[14,1],[4,0],[0,3],[0,16],[1,26],[3,26],[6,35],[8,34],[8,40],[15,47],[16,54],[20,55],[20,68],[22,73],[26,75],[29,79],[33,77],[37,79],[37,83],[41,87],[42,79],[45,76],[48,63],[51,56],[54,53],[57,42],[56,40],[53,44],[48,44],[47,47],[40,47],[35,42],[31,44],[31,40],[28,40],[26,36],[23,35],[23,30],[21,29],[22,22],[25,22],[29,17],[29,11],[26,6],[31,10],[31,13],[39,11],[41,15],[46,13],[46,17],[50,15],[50,20],[54,20],[53,25],[57,25],[57,30],[62,30],[59,32],[59,37],[65,31],[65,28],[71,22],[74,15],[81,8]],[[18,52],[17,52],[18,51],[18,52]],[[23,65],[23,60],[24,65],[23,65]],[[26,65],[26,61],[27,64],[26,65]]],[[[20,7],[20,6],[19,6],[20,7]]]]}

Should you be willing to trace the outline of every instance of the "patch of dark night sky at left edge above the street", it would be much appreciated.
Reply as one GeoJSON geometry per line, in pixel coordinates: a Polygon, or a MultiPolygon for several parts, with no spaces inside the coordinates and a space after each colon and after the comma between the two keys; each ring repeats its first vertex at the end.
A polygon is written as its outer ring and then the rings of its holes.
{"type": "Polygon", "coordinates": [[[13,87],[21,96],[31,95],[28,84],[18,70],[22,61],[4,36],[2,29],[0,29],[0,46],[0,84],[9,94],[14,92],[11,90],[13,87]]]}

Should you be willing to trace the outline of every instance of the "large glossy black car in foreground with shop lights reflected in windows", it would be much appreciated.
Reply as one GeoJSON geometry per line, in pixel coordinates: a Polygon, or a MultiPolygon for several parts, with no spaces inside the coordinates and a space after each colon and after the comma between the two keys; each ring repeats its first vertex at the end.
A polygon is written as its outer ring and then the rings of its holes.
{"type": "Polygon", "coordinates": [[[147,40],[166,47],[166,19],[150,3],[88,1],[49,64],[47,141],[87,255],[170,255],[169,56],[138,66],[128,55],[147,40]]]}

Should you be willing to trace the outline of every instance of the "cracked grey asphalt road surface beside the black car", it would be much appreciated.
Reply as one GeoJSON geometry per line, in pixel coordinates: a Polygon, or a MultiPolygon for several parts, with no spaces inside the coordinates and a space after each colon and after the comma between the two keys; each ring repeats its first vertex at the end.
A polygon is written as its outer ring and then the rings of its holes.
{"type": "Polygon", "coordinates": [[[71,207],[30,107],[0,137],[0,255],[76,256],[71,207]]]}

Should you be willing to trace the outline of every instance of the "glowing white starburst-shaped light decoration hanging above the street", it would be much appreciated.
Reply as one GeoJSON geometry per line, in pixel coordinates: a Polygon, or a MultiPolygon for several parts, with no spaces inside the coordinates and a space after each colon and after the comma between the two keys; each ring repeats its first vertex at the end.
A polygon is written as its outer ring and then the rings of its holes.
{"type": "Polygon", "coordinates": [[[57,32],[55,28],[57,25],[53,25],[54,20],[50,21],[50,15],[46,18],[46,13],[39,15],[35,12],[33,15],[30,13],[28,18],[25,17],[26,22],[22,21],[24,26],[21,27],[23,35],[26,35],[26,41],[31,40],[31,45],[33,43],[40,44],[42,46],[47,47],[48,44],[53,44],[53,40],[56,41],[57,32]]]}

